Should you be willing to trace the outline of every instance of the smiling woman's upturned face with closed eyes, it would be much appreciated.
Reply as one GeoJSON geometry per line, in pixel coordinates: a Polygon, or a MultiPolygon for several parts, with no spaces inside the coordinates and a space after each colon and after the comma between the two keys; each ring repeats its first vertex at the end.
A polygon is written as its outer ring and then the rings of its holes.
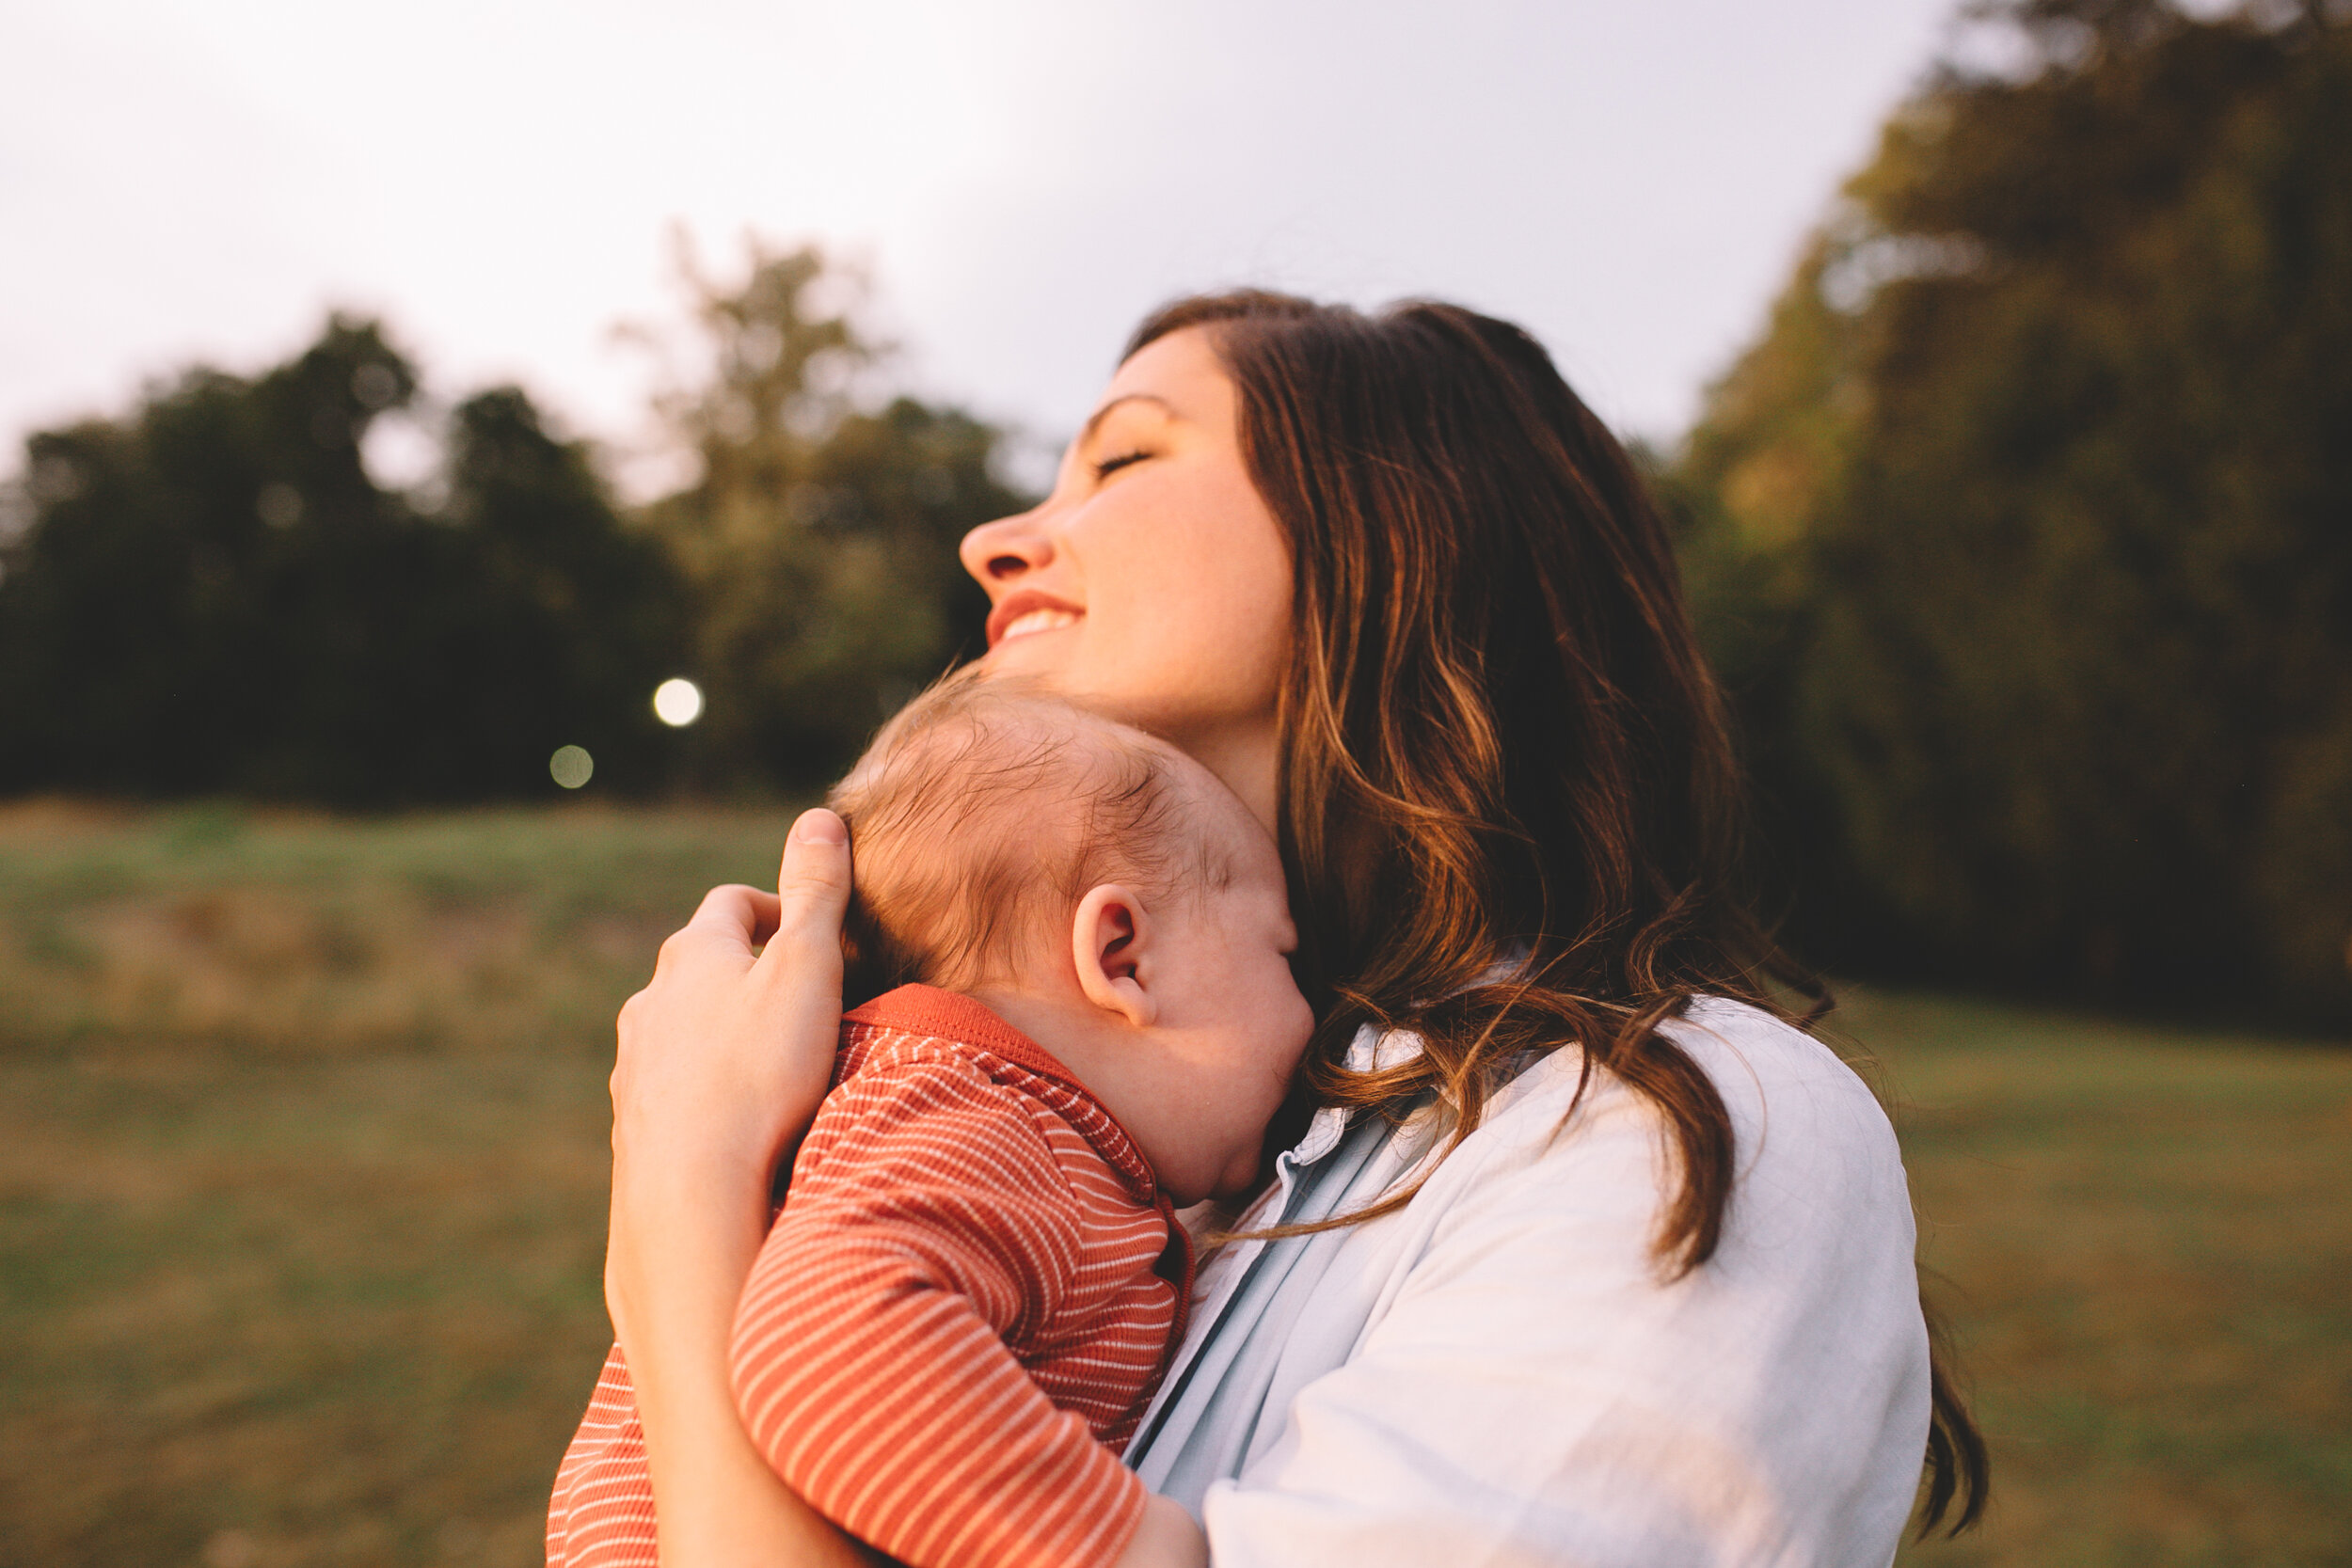
{"type": "Polygon", "coordinates": [[[1291,562],[1202,329],[1127,360],[1054,494],[971,529],[962,557],[993,604],[990,668],[1181,745],[1272,818],[1291,562]]]}

